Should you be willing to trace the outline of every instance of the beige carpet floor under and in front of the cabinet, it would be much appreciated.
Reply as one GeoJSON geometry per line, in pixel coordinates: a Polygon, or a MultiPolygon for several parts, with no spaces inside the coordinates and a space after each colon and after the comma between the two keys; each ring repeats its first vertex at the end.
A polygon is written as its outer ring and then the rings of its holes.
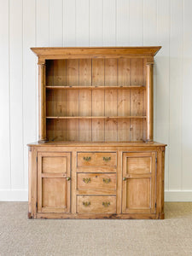
{"type": "Polygon", "coordinates": [[[192,255],[192,203],[165,220],[34,220],[26,202],[0,202],[0,255],[192,255]]]}

